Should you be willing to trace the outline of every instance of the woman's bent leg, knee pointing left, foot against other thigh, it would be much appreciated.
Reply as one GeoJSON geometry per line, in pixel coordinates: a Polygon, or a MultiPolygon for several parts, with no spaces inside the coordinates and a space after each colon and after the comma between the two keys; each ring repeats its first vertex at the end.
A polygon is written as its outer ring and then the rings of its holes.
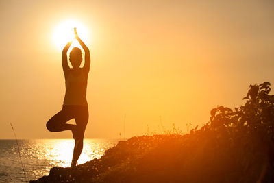
{"type": "Polygon", "coordinates": [[[49,121],[47,122],[47,130],[50,132],[62,132],[64,130],[73,130],[75,125],[66,124],[66,121],[73,119],[73,112],[69,110],[64,110],[64,108],[55,114],[49,121]]]}

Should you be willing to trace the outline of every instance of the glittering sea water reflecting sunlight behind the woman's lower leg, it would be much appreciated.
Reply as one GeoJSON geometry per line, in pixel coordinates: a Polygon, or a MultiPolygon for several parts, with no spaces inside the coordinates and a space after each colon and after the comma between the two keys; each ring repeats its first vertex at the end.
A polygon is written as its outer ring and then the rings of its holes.
{"type": "MultiPolygon", "coordinates": [[[[78,164],[101,158],[105,150],[114,147],[118,141],[84,139],[78,164]]],[[[29,182],[48,175],[52,167],[70,167],[73,147],[73,139],[18,140],[18,145],[16,140],[0,140],[0,182],[29,182]]]]}

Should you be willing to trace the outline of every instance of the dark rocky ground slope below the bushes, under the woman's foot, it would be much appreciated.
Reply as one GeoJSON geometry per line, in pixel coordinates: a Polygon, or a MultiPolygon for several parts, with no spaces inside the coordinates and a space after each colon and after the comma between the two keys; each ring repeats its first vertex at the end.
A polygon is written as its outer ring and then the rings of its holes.
{"type": "Polygon", "coordinates": [[[217,134],[140,136],[120,141],[101,159],[74,169],[53,167],[38,182],[271,182],[268,151],[217,134]]]}

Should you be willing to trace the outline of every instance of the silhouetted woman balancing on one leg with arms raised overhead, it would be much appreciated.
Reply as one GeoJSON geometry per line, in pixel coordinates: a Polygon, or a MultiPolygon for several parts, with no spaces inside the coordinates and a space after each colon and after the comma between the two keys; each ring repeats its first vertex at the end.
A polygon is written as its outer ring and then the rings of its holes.
{"type": "Polygon", "coordinates": [[[51,132],[71,130],[73,138],[75,139],[71,167],[76,166],[77,160],[79,159],[83,149],[84,132],[86,124],[88,123],[86,86],[88,83],[88,72],[90,71],[90,51],[79,38],[76,28],[74,29],[74,32],[75,38],[85,51],[85,63],[83,68],[80,68],[82,62],[82,51],[81,49],[74,47],[71,53],[69,53],[69,61],[73,68],[69,67],[66,53],[71,46],[71,42],[68,42],[62,52],[62,66],[66,80],[64,104],[62,110],[47,122],[47,129],[51,132]],[[75,119],[76,125],[66,124],[70,119],[75,119]]]}

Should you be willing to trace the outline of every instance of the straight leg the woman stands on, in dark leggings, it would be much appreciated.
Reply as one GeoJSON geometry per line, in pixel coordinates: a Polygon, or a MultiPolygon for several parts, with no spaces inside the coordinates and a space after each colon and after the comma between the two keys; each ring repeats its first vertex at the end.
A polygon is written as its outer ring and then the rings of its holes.
{"type": "Polygon", "coordinates": [[[75,115],[76,122],[76,134],[75,134],[75,145],[73,149],[73,160],[71,161],[71,167],[75,167],[77,160],[79,159],[82,149],[84,133],[86,130],[86,124],[88,123],[88,107],[80,107],[77,109],[77,114],[75,115]]]}

